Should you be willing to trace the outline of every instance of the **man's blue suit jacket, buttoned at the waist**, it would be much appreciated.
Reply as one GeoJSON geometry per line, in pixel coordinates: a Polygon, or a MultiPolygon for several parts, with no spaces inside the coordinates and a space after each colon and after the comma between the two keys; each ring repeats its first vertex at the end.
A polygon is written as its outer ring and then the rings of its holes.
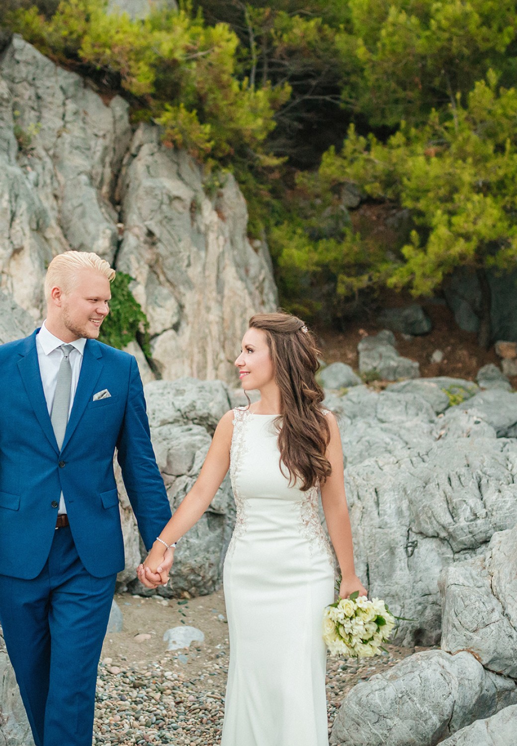
{"type": "Polygon", "coordinates": [[[90,574],[106,577],[124,568],[115,448],[147,548],[171,516],[137,361],[87,340],[60,450],[43,393],[36,334],[0,346],[0,574],[25,579],[40,574],[63,491],[79,557],[90,574]],[[93,401],[102,389],[111,396],[93,401]]]}

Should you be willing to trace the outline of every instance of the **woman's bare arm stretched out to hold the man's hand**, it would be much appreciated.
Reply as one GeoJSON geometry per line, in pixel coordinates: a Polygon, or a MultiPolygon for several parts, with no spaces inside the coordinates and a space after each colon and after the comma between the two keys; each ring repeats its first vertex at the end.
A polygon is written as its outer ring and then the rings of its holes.
{"type": "MultiPolygon", "coordinates": [[[[230,466],[231,436],[234,431],[233,410],[227,412],[219,420],[216,432],[213,434],[212,443],[204,460],[198,478],[187,492],[178,510],[175,511],[169,522],[163,527],[160,539],[165,544],[173,544],[181,539],[184,533],[201,518],[204,511],[212,502],[214,495],[221,486],[230,466]]],[[[139,565],[138,577],[152,587],[160,583],[166,583],[169,570],[172,567],[174,551],[166,549],[159,541],[154,542],[151,551],[142,565],[139,565]]]]}

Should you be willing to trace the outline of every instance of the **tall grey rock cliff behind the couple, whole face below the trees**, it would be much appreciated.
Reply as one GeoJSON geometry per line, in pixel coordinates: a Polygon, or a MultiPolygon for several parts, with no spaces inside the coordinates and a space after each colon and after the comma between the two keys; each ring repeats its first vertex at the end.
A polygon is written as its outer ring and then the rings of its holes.
{"type": "Polygon", "coordinates": [[[247,219],[231,175],[208,198],[201,166],[164,148],[157,127],[134,134],[120,96],[105,104],[20,37],[4,49],[0,289],[34,322],[51,259],[96,251],[136,278],[154,373],[236,380],[248,317],[278,303],[269,252],[251,246],[247,219]]]}

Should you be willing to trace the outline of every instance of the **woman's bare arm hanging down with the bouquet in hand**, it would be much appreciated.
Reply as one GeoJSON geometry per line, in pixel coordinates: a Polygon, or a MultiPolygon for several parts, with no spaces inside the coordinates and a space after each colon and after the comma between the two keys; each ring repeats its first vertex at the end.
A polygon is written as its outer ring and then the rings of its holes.
{"type": "Polygon", "coordinates": [[[354,569],[354,545],[345,498],[343,451],[339,427],[332,413],[328,413],[327,421],[330,428],[327,458],[330,461],[332,473],[325,484],[322,485],[322,505],[330,541],[341,569],[342,580],[339,595],[341,598],[347,598],[354,591],[359,591],[360,595],[366,596],[366,589],[355,574],[354,569]]]}

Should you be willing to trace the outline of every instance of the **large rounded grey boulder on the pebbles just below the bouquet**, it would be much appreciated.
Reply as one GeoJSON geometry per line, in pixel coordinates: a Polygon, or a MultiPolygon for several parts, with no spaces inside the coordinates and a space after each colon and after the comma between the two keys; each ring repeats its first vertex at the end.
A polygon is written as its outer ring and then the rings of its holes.
{"type": "Polygon", "coordinates": [[[434,746],[516,702],[516,683],[486,671],[470,653],[416,653],[351,689],[330,744],[434,746]]]}

